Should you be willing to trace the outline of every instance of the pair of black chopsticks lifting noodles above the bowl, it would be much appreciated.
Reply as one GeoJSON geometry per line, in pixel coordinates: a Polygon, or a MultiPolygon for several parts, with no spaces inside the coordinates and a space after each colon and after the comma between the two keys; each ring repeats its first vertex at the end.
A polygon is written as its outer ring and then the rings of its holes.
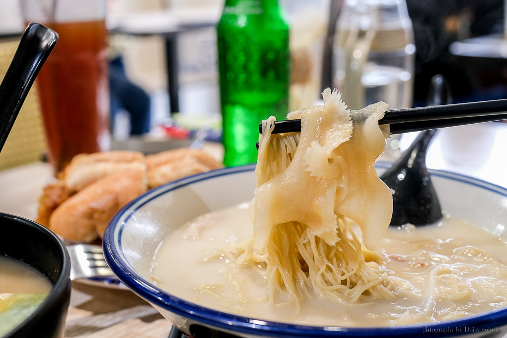
{"type": "MultiPolygon", "coordinates": [[[[391,134],[402,134],[500,120],[507,120],[507,99],[387,110],[379,125],[388,124],[391,134]]],[[[301,120],[283,120],[275,122],[272,133],[300,131],[301,120]]]]}

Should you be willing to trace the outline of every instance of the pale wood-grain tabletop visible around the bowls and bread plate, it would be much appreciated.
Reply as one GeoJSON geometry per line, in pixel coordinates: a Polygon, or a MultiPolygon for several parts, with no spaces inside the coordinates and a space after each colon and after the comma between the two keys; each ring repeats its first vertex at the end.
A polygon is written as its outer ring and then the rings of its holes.
{"type": "MultiPolygon", "coordinates": [[[[415,134],[401,139],[406,148],[415,134]]],[[[507,187],[507,124],[485,123],[442,129],[428,149],[427,166],[470,175],[507,187]]],[[[207,148],[221,156],[216,146],[207,148]]],[[[388,159],[384,156],[382,159],[388,159]]],[[[52,180],[46,163],[0,172],[0,211],[33,219],[42,187],[52,180]]],[[[171,325],[129,290],[73,282],[65,337],[164,337],[171,325]]]]}

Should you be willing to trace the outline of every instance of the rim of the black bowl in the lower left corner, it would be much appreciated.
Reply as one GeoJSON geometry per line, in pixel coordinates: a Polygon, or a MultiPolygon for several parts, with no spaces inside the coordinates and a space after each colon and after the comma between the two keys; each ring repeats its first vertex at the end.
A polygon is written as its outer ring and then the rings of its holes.
{"type": "MultiPolygon", "coordinates": [[[[40,233],[45,234],[57,247],[58,251],[62,254],[62,264],[61,264],[61,270],[60,274],[56,280],[56,282],[51,287],[51,290],[49,291],[46,298],[44,298],[44,301],[41,303],[41,305],[23,322],[18,324],[14,329],[9,331],[6,335],[6,337],[9,337],[11,335],[16,335],[17,331],[21,330],[23,326],[31,322],[32,320],[38,320],[41,317],[44,317],[45,311],[48,308],[52,308],[53,306],[56,306],[58,303],[58,299],[66,292],[69,292],[70,288],[70,257],[68,255],[67,249],[65,248],[65,245],[60,240],[58,236],[55,235],[51,230],[48,228],[42,226],[41,224],[25,218],[21,216],[16,216],[4,212],[0,212],[0,219],[6,218],[11,219],[12,221],[19,222],[22,224],[25,224],[27,227],[37,230],[40,233]]],[[[0,254],[2,254],[0,252],[0,254]]],[[[15,259],[15,258],[14,258],[15,259]]],[[[26,263],[25,263],[26,264],[26,263]]]]}

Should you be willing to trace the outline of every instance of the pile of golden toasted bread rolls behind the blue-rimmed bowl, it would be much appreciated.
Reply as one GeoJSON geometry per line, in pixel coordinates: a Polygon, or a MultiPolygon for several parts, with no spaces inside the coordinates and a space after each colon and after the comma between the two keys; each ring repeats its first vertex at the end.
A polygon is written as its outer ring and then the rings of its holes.
{"type": "Polygon", "coordinates": [[[63,238],[102,238],[113,215],[152,187],[223,165],[202,151],[175,149],[78,155],[44,188],[37,221],[63,238]]]}

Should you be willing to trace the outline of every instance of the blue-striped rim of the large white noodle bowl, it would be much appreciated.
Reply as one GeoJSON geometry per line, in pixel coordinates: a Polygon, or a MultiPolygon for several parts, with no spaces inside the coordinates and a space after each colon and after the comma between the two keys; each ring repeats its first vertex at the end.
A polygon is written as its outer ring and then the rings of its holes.
{"type": "MultiPolygon", "coordinates": [[[[386,169],[389,167],[389,162],[379,161],[375,164],[375,167],[378,169],[386,169]]],[[[219,176],[237,174],[253,170],[255,170],[255,165],[247,165],[218,169],[203,174],[189,176],[161,185],[131,201],[113,217],[110,225],[105,231],[103,245],[107,264],[110,265],[113,272],[128,288],[155,306],[161,307],[176,315],[195,320],[201,324],[245,334],[255,334],[261,336],[289,335],[294,337],[307,338],[358,336],[428,337],[428,335],[449,336],[453,333],[457,333],[457,330],[459,328],[461,328],[461,332],[472,333],[472,330],[478,330],[480,332],[487,333],[488,330],[491,330],[492,328],[497,328],[499,326],[507,324],[507,308],[497,309],[474,316],[467,316],[449,322],[422,323],[396,327],[309,326],[260,320],[212,310],[200,305],[196,305],[192,302],[185,301],[182,298],[178,298],[143,279],[126,262],[125,257],[121,253],[121,233],[126,225],[126,221],[135,214],[137,209],[149,203],[151,200],[160,197],[161,195],[177,190],[189,184],[219,176]],[[117,238],[119,238],[120,241],[118,241],[117,245],[115,245],[117,238]]],[[[507,189],[480,179],[445,170],[430,169],[429,172],[431,176],[438,176],[445,179],[460,181],[465,184],[480,187],[482,189],[507,197],[507,189]]]]}

